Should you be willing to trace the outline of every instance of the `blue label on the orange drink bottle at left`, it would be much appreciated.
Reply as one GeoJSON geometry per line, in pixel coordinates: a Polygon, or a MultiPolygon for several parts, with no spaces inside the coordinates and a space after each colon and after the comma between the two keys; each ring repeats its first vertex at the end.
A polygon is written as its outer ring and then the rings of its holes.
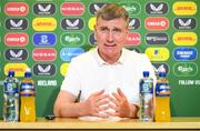
{"type": "Polygon", "coordinates": [[[20,87],[21,95],[36,95],[36,89],[32,83],[22,82],[20,87]]]}

